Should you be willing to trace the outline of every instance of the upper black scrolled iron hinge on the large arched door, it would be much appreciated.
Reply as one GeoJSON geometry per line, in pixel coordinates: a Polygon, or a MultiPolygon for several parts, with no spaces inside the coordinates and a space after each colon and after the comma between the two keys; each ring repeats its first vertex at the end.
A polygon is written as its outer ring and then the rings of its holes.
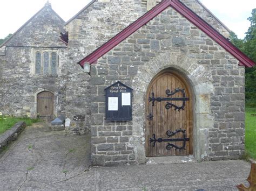
{"type": "Polygon", "coordinates": [[[185,90],[184,89],[175,89],[175,91],[170,91],[169,89],[167,89],[165,91],[165,93],[167,94],[167,97],[154,97],[154,93],[152,93],[152,97],[149,97],[149,102],[152,102],[152,106],[154,106],[154,102],[157,101],[157,102],[161,102],[161,101],[182,101],[182,105],[181,106],[177,106],[173,103],[170,103],[170,102],[167,102],[166,105],[165,105],[165,108],[166,109],[170,109],[170,108],[175,108],[175,110],[184,110],[184,107],[185,107],[185,102],[190,100],[190,98],[186,97],[186,94],[185,94],[185,90]],[[181,92],[182,96],[183,97],[169,97],[169,96],[172,96],[174,94],[177,94],[181,92]]]}

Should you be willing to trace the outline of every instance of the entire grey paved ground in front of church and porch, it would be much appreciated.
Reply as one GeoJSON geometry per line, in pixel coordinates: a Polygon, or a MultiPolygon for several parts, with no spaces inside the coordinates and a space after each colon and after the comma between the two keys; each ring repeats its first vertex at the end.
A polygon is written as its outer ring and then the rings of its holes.
{"type": "Polygon", "coordinates": [[[26,128],[0,159],[0,190],[237,190],[250,164],[241,160],[89,167],[89,137],[26,128]]]}

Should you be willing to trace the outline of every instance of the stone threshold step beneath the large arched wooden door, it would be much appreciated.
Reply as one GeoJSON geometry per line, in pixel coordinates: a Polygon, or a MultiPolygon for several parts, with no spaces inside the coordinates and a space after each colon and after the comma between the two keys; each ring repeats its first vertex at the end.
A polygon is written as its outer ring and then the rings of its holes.
{"type": "Polygon", "coordinates": [[[159,165],[159,164],[180,164],[188,162],[196,162],[197,160],[193,155],[187,156],[167,156],[167,157],[147,157],[147,165],[159,165]]]}

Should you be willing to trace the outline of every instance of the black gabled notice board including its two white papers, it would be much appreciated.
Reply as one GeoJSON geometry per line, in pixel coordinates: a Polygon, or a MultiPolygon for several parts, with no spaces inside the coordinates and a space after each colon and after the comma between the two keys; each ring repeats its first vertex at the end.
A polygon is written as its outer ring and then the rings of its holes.
{"type": "Polygon", "coordinates": [[[113,83],[105,88],[106,92],[106,120],[132,120],[132,88],[122,82],[113,83]]]}

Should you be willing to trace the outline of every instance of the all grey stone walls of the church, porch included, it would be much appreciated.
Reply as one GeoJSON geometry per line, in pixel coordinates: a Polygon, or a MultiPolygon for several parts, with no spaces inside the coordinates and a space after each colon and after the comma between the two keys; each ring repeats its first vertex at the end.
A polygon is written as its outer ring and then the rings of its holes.
{"type": "MultiPolygon", "coordinates": [[[[244,154],[245,66],[172,6],[99,56],[97,63],[86,63],[91,64],[90,73],[77,64],[167,1],[92,1],[66,23],[46,3],[0,48],[1,112],[37,117],[37,95],[49,91],[54,95],[53,114],[68,119],[66,131],[91,134],[92,165],[144,163],[147,88],[154,76],[173,70],[192,91],[194,158],[240,158],[244,154]],[[68,32],[68,40],[60,39],[60,32],[68,32]],[[42,55],[40,74],[35,72],[37,52],[42,55]],[[44,72],[45,52],[51,68],[51,53],[56,52],[56,73],[44,72]],[[132,121],[105,120],[104,89],[117,81],[133,89],[132,121]]],[[[180,2],[216,33],[229,36],[227,27],[199,1],[180,2]]]]}

